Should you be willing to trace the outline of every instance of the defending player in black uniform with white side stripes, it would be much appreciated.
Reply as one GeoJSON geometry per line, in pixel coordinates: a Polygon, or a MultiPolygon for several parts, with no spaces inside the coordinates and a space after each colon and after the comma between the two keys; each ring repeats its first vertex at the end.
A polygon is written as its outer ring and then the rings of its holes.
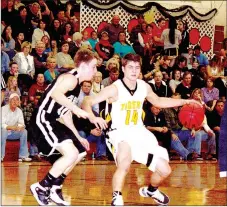
{"type": "Polygon", "coordinates": [[[52,200],[57,205],[70,205],[62,196],[62,184],[73,167],[86,155],[89,143],[79,136],[72,113],[87,118],[88,113],[78,108],[75,101],[80,92],[80,83],[91,80],[96,73],[97,59],[87,49],[75,55],[76,68],[60,75],[45,90],[39,102],[36,115],[36,128],[40,132],[39,152],[48,158],[58,153],[60,156],[50,160],[53,164],[47,175],[30,189],[39,205],[48,205],[52,200]],[[53,163],[54,162],[54,163],[53,163]]]}

